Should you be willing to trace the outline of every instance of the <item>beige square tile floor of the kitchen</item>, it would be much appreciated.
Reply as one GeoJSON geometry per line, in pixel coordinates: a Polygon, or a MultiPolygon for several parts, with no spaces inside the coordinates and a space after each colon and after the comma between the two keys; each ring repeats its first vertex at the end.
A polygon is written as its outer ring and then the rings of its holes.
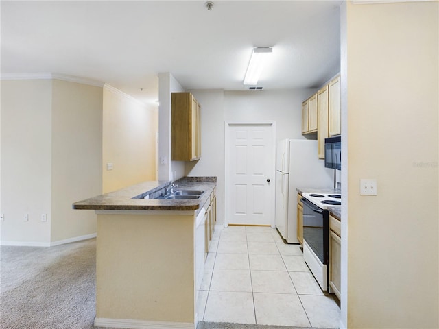
{"type": "Polygon", "coordinates": [[[198,295],[200,321],[338,328],[340,307],[309,272],[298,245],[269,227],[216,230],[198,295]]]}

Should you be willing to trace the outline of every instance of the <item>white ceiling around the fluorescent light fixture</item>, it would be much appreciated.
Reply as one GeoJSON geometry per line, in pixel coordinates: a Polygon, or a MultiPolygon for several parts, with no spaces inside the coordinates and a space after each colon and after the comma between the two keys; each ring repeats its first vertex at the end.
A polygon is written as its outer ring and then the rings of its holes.
{"type": "Polygon", "coordinates": [[[186,89],[246,90],[252,47],[273,47],[265,90],[340,71],[342,1],[213,2],[1,1],[1,73],[85,77],[154,104],[161,72],[186,89]]]}

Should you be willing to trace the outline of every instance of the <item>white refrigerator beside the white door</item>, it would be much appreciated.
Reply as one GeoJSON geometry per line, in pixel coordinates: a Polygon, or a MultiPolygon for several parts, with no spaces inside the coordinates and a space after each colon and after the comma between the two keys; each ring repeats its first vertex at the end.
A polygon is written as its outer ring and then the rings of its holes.
{"type": "Polygon", "coordinates": [[[333,188],[334,169],[318,158],[317,141],[283,139],[276,145],[276,228],[287,243],[297,240],[296,188],[333,188]]]}

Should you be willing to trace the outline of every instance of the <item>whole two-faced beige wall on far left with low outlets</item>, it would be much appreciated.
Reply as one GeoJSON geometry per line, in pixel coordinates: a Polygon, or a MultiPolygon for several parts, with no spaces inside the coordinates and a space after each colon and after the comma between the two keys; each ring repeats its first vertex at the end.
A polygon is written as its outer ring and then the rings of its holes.
{"type": "Polygon", "coordinates": [[[2,80],[1,92],[1,243],[93,236],[94,212],[71,204],[101,193],[102,87],[2,80]]]}

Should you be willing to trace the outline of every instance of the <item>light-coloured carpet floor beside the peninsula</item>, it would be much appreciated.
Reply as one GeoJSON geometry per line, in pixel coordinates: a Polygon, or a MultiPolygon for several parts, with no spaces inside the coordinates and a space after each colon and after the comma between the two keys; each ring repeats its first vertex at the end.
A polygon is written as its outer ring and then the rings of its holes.
{"type": "MultiPolygon", "coordinates": [[[[0,247],[0,328],[105,329],[93,326],[95,265],[95,239],[54,247],[0,247]]],[[[296,327],[211,322],[197,327],[287,328],[296,327]]]]}

